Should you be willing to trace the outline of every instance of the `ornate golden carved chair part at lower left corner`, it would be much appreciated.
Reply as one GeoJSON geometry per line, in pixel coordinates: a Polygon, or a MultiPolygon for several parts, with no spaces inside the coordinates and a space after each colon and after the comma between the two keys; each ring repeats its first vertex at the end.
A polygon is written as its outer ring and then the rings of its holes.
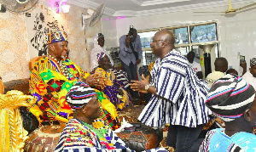
{"type": "Polygon", "coordinates": [[[0,93],[0,152],[23,151],[28,136],[22,125],[19,108],[29,107],[34,102],[32,96],[24,95],[17,90],[11,90],[6,94],[0,93]]]}

